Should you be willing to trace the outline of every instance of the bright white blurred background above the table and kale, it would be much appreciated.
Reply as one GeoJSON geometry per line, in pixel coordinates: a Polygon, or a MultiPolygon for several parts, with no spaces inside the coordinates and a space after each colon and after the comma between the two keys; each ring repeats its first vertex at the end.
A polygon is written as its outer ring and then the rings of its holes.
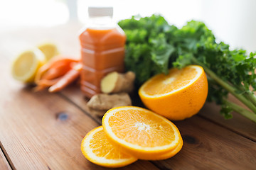
{"type": "Polygon", "coordinates": [[[70,21],[86,23],[87,6],[114,6],[116,21],[132,15],[160,13],[178,27],[203,21],[218,40],[233,48],[256,51],[255,0],[0,0],[0,32],[52,27],[70,21]]]}

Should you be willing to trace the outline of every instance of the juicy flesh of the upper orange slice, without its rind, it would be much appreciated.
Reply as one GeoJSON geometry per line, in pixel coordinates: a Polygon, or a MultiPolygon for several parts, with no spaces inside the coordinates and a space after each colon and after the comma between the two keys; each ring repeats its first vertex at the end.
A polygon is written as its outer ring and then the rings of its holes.
{"type": "Polygon", "coordinates": [[[119,139],[142,147],[169,145],[175,139],[171,125],[145,111],[117,111],[109,125],[119,139]]]}

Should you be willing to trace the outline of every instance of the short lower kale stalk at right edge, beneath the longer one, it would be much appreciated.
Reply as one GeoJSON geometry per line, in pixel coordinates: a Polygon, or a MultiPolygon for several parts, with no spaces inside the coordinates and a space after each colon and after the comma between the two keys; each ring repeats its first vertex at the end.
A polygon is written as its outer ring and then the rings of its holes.
{"type": "Polygon", "coordinates": [[[247,111],[245,108],[242,108],[241,106],[238,106],[237,104],[227,101],[227,100],[223,100],[224,103],[229,106],[230,108],[233,109],[233,111],[240,113],[241,115],[245,116],[245,118],[249,118],[250,120],[252,120],[253,122],[256,123],[256,114],[247,111]]]}

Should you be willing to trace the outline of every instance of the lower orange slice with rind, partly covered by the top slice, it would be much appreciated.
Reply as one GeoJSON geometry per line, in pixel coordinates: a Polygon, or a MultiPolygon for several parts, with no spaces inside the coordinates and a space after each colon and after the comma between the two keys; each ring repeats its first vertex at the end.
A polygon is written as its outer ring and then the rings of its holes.
{"type": "Polygon", "coordinates": [[[105,167],[121,167],[132,164],[137,158],[124,154],[108,142],[102,126],[91,130],[81,144],[82,154],[92,163],[105,167]]]}

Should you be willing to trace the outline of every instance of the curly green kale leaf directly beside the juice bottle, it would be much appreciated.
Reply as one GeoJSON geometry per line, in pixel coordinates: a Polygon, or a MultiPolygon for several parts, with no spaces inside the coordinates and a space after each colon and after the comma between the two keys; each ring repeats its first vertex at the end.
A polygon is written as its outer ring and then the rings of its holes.
{"type": "Polygon", "coordinates": [[[127,35],[125,67],[135,72],[137,86],[154,74],[168,72],[169,58],[174,52],[174,47],[169,45],[165,37],[171,26],[164,17],[132,16],[131,19],[119,21],[118,24],[127,35]]]}

